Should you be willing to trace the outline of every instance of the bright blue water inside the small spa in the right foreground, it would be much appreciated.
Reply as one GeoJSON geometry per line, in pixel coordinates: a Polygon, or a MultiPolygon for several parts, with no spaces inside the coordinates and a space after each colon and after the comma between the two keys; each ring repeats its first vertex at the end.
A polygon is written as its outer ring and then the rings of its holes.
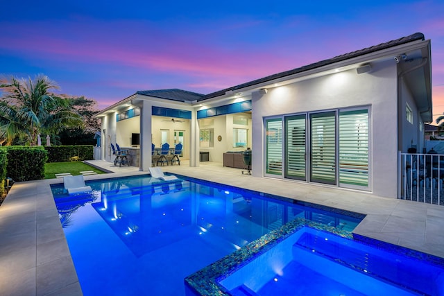
{"type": "Polygon", "coordinates": [[[302,227],[219,281],[232,295],[444,295],[444,265],[302,227]]]}

